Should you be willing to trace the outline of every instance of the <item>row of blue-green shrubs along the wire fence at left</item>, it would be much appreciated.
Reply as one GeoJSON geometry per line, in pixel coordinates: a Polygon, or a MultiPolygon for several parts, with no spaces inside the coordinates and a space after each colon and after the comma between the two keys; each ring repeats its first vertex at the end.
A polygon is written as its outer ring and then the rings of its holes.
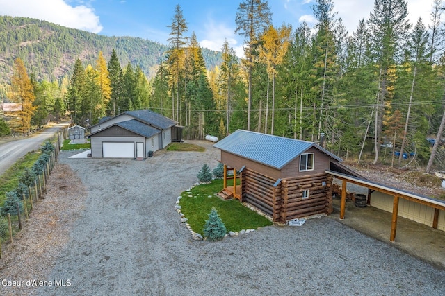
{"type": "Polygon", "coordinates": [[[24,221],[29,219],[36,203],[43,198],[47,180],[60,152],[61,138],[63,134],[58,133],[53,139],[55,141],[45,142],[37,161],[20,175],[17,188],[6,192],[6,199],[0,207],[0,258],[3,241],[13,243],[14,234],[24,227],[24,221]]]}

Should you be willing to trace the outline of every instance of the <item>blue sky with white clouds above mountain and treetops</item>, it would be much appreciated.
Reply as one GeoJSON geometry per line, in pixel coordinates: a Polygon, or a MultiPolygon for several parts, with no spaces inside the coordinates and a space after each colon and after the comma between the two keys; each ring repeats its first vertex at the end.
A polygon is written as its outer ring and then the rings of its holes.
{"type": "MultiPolygon", "coordinates": [[[[242,0],[0,0],[0,15],[44,19],[70,28],[79,28],[106,36],[131,36],[168,44],[168,34],[179,4],[188,23],[188,33],[195,32],[202,47],[220,50],[227,38],[242,54],[243,37],[236,35],[235,16],[242,0]]],[[[273,23],[302,21],[314,25],[314,0],[269,0],[273,23]]],[[[374,0],[333,0],[334,11],[350,33],[359,20],[369,17],[374,0]]],[[[409,19],[419,17],[428,24],[433,0],[408,0],[409,19]]]]}

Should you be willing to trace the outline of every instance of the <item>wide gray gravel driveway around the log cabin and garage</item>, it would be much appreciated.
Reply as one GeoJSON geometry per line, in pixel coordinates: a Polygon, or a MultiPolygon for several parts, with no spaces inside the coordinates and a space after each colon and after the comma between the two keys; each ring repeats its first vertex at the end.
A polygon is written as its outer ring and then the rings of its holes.
{"type": "Polygon", "coordinates": [[[193,241],[174,210],[219,150],[161,151],[145,161],[70,159],[84,209],[47,281],[33,295],[445,295],[445,270],[332,218],[193,241]]]}

